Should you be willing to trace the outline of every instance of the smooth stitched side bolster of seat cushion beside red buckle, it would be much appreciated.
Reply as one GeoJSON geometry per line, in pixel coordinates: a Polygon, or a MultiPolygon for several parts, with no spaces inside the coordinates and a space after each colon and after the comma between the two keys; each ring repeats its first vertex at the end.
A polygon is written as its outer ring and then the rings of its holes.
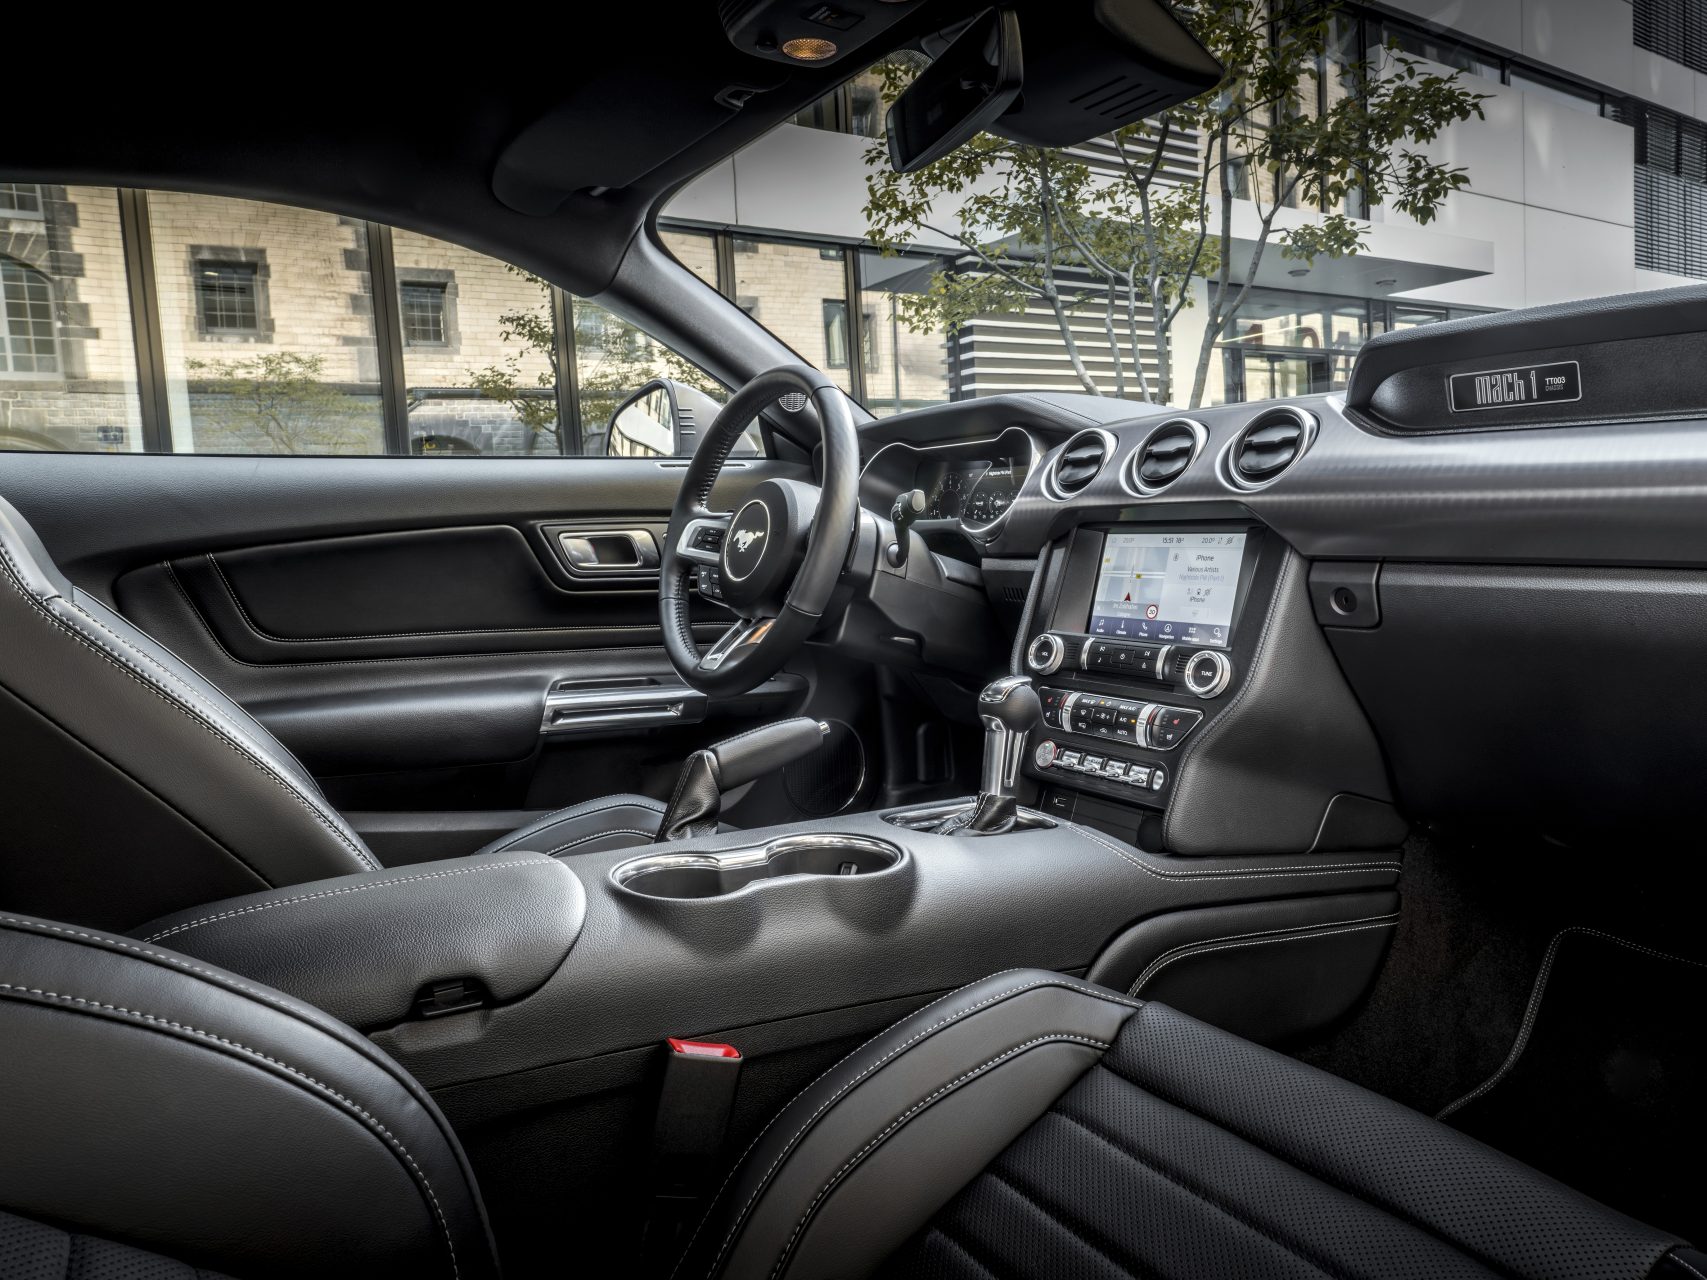
{"type": "Polygon", "coordinates": [[[674,1275],[874,1268],[1089,1070],[1139,1007],[1016,969],[903,1019],[754,1138],[674,1275]]]}

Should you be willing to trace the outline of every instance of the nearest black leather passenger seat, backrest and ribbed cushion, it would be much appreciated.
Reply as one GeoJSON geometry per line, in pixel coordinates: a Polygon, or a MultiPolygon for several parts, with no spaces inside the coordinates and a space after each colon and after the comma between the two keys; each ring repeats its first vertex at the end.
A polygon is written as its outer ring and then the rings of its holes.
{"type": "MultiPolygon", "coordinates": [[[[0,916],[0,1271],[497,1275],[456,1135],[331,1017],[0,916]]],[[[1693,1270],[1692,1270],[1693,1268],[1693,1270]]],[[[1676,1237],[1164,1005],[1022,969],[807,1087],[674,1277],[1666,1277],[1676,1237]]]]}

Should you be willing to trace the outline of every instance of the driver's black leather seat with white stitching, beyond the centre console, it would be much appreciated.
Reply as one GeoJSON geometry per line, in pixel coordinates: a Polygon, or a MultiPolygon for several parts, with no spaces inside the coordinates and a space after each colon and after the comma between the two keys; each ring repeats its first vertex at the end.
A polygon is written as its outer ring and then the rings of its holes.
{"type": "MultiPolygon", "coordinates": [[[[0,500],[0,777],[12,910],[128,928],[379,860],[236,701],[55,567],[0,500]]],[[[662,806],[615,795],[492,848],[644,843],[662,806]]]]}

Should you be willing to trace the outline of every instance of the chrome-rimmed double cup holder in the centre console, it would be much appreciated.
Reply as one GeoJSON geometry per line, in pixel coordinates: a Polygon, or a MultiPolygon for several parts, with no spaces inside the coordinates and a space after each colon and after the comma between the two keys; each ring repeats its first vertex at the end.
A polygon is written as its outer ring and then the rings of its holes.
{"type": "Polygon", "coordinates": [[[649,853],[618,864],[620,889],[647,898],[727,898],[785,876],[876,876],[901,864],[900,845],[872,836],[780,836],[746,848],[649,853]]]}

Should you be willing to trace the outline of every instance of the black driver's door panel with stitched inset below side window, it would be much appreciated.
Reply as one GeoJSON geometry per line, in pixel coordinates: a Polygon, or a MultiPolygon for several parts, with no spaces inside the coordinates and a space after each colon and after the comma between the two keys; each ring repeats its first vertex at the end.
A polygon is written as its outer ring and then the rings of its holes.
{"type": "MultiPolygon", "coordinates": [[[[655,573],[575,575],[555,534],[662,541],[683,473],[657,459],[61,454],[0,459],[0,493],[67,575],[244,703],[338,807],[521,811],[664,792],[688,751],[813,696],[816,679],[784,674],[739,700],[683,700],[657,727],[541,734],[565,683],[618,698],[679,683],[655,573]]],[[[734,463],[714,505],[765,476],[804,468],[734,463]]],[[[710,638],[727,614],[705,609],[710,638]]]]}

